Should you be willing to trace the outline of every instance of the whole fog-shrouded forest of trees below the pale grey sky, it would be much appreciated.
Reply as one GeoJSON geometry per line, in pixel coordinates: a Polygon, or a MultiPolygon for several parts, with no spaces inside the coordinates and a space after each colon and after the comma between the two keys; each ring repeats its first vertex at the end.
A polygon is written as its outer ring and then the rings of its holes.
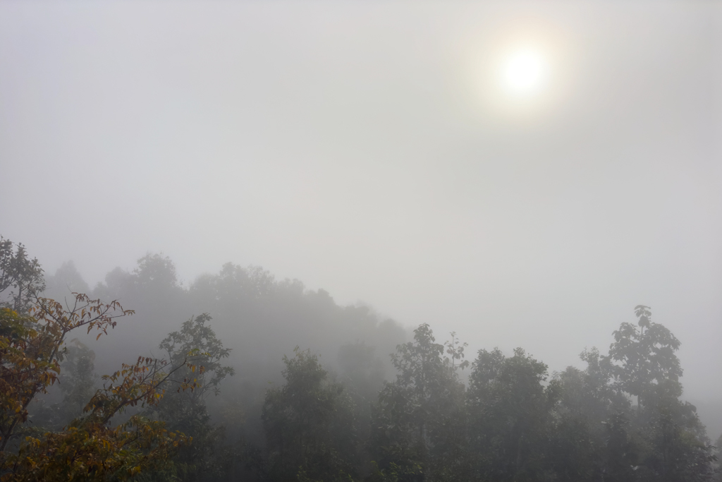
{"type": "Polygon", "coordinates": [[[3,482],[722,481],[648,306],[549,373],[260,267],[90,287],[3,238],[0,293],[3,482]]]}

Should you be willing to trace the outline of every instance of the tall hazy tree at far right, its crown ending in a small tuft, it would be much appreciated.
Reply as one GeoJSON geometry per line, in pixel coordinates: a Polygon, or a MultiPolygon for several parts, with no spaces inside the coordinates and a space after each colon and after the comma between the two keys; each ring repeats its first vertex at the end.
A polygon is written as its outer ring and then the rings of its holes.
{"type": "MultiPolygon", "coordinates": [[[[636,396],[638,406],[629,423],[610,420],[610,431],[621,434],[625,426],[627,439],[638,441],[637,478],[708,480],[714,460],[712,447],[696,408],[679,400],[682,367],[675,354],[679,340],[666,327],[651,321],[648,306],[636,306],[635,315],[639,328],[622,323],[614,332],[614,343],[604,363],[614,376],[614,387],[636,396]]],[[[614,447],[609,447],[609,453],[614,455],[614,447]]]]}

